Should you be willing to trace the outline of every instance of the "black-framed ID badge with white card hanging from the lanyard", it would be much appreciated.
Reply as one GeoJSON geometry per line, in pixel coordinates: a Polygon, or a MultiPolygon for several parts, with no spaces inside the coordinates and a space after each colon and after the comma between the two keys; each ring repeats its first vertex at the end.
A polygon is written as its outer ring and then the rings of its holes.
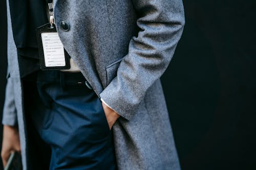
{"type": "Polygon", "coordinates": [[[56,26],[50,23],[36,29],[41,70],[62,70],[70,68],[70,56],[63,47],[56,26]]]}

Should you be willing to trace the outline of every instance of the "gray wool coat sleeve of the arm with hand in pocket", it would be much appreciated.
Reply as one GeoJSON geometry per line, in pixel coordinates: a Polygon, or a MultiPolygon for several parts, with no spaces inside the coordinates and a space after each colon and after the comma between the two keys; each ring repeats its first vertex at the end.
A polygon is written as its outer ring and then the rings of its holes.
{"type": "Polygon", "coordinates": [[[133,0],[133,4],[140,31],[131,39],[117,76],[100,93],[102,100],[127,120],[166,70],[185,24],[182,0],[133,0]]]}

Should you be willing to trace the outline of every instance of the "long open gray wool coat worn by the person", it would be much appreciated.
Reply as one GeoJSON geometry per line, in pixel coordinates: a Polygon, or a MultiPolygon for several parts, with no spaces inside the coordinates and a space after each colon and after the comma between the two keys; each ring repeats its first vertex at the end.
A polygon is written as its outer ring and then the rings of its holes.
{"type": "MultiPolygon", "coordinates": [[[[9,3],[8,83],[3,124],[18,124],[27,159],[23,87],[9,3]]],[[[184,27],[181,0],[54,1],[60,40],[93,90],[120,118],[113,127],[118,169],[180,169],[159,78],[184,27]],[[69,23],[64,31],[60,22],[69,23]]]]}

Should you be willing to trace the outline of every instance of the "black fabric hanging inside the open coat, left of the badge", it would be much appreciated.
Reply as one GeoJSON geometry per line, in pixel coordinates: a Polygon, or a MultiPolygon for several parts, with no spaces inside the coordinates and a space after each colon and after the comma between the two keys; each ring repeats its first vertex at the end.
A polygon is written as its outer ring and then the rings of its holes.
{"type": "Polygon", "coordinates": [[[48,22],[46,0],[9,0],[20,77],[39,70],[36,28],[48,22]]]}

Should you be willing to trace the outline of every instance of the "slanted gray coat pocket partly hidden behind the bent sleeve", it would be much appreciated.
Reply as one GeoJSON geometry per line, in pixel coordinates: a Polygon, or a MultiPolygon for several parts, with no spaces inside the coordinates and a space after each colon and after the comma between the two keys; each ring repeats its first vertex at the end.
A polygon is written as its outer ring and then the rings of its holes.
{"type": "Polygon", "coordinates": [[[117,75],[117,69],[120,65],[120,62],[123,60],[123,58],[118,59],[111,63],[110,65],[106,66],[106,85],[109,85],[110,82],[116,77],[117,75]]]}

